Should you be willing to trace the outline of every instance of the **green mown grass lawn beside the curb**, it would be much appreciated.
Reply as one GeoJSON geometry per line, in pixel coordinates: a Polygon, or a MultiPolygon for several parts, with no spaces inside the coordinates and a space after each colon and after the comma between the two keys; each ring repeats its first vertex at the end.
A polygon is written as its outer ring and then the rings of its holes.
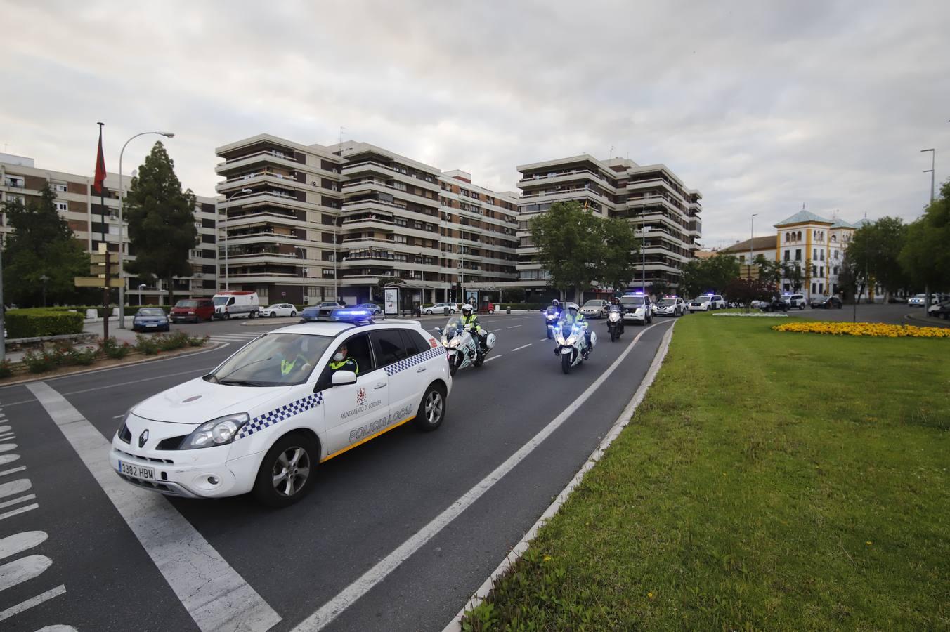
{"type": "Polygon", "coordinates": [[[475,630],[950,629],[950,340],[691,315],[475,630]]]}

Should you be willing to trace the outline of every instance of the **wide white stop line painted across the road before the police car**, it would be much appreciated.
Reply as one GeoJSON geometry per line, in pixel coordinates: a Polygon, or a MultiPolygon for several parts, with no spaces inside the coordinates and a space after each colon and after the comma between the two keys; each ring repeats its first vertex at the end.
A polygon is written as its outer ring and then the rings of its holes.
{"type": "Polygon", "coordinates": [[[262,632],[280,621],[274,609],[164,496],[133,487],[112,471],[109,441],[66,398],[44,381],[26,386],[202,631],[262,632]]]}

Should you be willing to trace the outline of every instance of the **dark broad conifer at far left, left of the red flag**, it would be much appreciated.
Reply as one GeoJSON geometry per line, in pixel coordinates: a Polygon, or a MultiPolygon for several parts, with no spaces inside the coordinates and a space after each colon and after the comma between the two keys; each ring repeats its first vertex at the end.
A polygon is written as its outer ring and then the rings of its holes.
{"type": "Polygon", "coordinates": [[[56,210],[56,194],[43,185],[40,197],[27,204],[4,202],[12,233],[4,245],[4,300],[19,306],[43,305],[43,276],[47,277],[47,305],[72,303],[87,297],[74,277],[89,275],[89,255],[56,210]]]}

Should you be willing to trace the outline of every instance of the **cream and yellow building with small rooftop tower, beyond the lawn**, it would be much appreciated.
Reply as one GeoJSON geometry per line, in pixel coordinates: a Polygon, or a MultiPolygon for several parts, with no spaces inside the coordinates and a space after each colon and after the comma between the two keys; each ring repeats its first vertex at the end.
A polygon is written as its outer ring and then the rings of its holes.
{"type": "MultiPolygon", "coordinates": [[[[867,220],[849,224],[801,210],[775,224],[775,260],[802,270],[802,291],[807,298],[838,294],[838,275],[845,250],[854,232],[867,220]]],[[[783,291],[793,291],[792,282],[782,279],[783,291]]]]}

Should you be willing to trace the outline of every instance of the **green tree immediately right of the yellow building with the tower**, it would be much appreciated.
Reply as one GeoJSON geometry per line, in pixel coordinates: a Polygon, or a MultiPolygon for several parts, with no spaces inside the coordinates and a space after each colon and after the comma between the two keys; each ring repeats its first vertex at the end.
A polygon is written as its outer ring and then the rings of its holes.
{"type": "MultiPolygon", "coordinates": [[[[907,237],[907,226],[898,217],[882,217],[865,224],[854,232],[847,254],[852,261],[863,266],[859,270],[881,284],[888,294],[907,285],[900,256],[907,237]]],[[[864,280],[865,283],[868,280],[864,280]]]]}

